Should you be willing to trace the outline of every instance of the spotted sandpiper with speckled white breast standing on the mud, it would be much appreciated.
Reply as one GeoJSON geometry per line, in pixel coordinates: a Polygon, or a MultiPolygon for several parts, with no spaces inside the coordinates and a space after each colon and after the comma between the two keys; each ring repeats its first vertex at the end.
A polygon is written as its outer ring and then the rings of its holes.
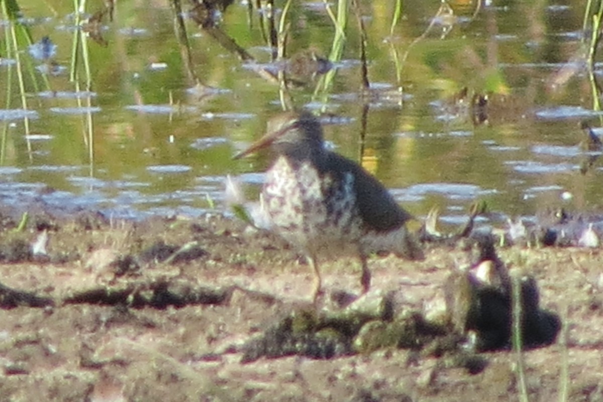
{"type": "Polygon", "coordinates": [[[320,122],[311,113],[274,117],[267,134],[235,159],[269,145],[276,161],[266,173],[262,208],[271,229],[308,258],[314,272],[312,300],[321,290],[318,256],[357,254],[362,294],[370,288],[368,254],[423,258],[405,226],[412,216],[361,166],[325,148],[320,122]]]}

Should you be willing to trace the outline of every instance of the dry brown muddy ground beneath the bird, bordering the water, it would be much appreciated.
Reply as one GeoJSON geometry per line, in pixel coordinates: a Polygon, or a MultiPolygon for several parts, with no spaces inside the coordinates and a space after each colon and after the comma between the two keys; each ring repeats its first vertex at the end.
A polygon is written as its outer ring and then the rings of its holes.
{"type": "MultiPolygon", "coordinates": [[[[508,348],[482,353],[478,374],[417,348],[241,362],[243,346],[292,311],[336,312],[330,295],[358,292],[353,259],[323,265],[326,296],[313,307],[308,267],[277,237],[240,222],[38,214],[16,231],[16,219],[0,222],[1,400],[517,400],[517,356],[508,348]],[[32,256],[24,245],[45,230],[48,254],[32,256]]],[[[445,278],[467,256],[449,247],[426,254],[421,262],[371,259],[371,291],[348,309],[384,295],[397,309],[441,306],[445,278]]],[[[499,256],[535,277],[541,307],[566,325],[567,348],[557,341],[523,354],[530,400],[561,392],[603,400],[601,251],[513,247],[499,256]]]]}

